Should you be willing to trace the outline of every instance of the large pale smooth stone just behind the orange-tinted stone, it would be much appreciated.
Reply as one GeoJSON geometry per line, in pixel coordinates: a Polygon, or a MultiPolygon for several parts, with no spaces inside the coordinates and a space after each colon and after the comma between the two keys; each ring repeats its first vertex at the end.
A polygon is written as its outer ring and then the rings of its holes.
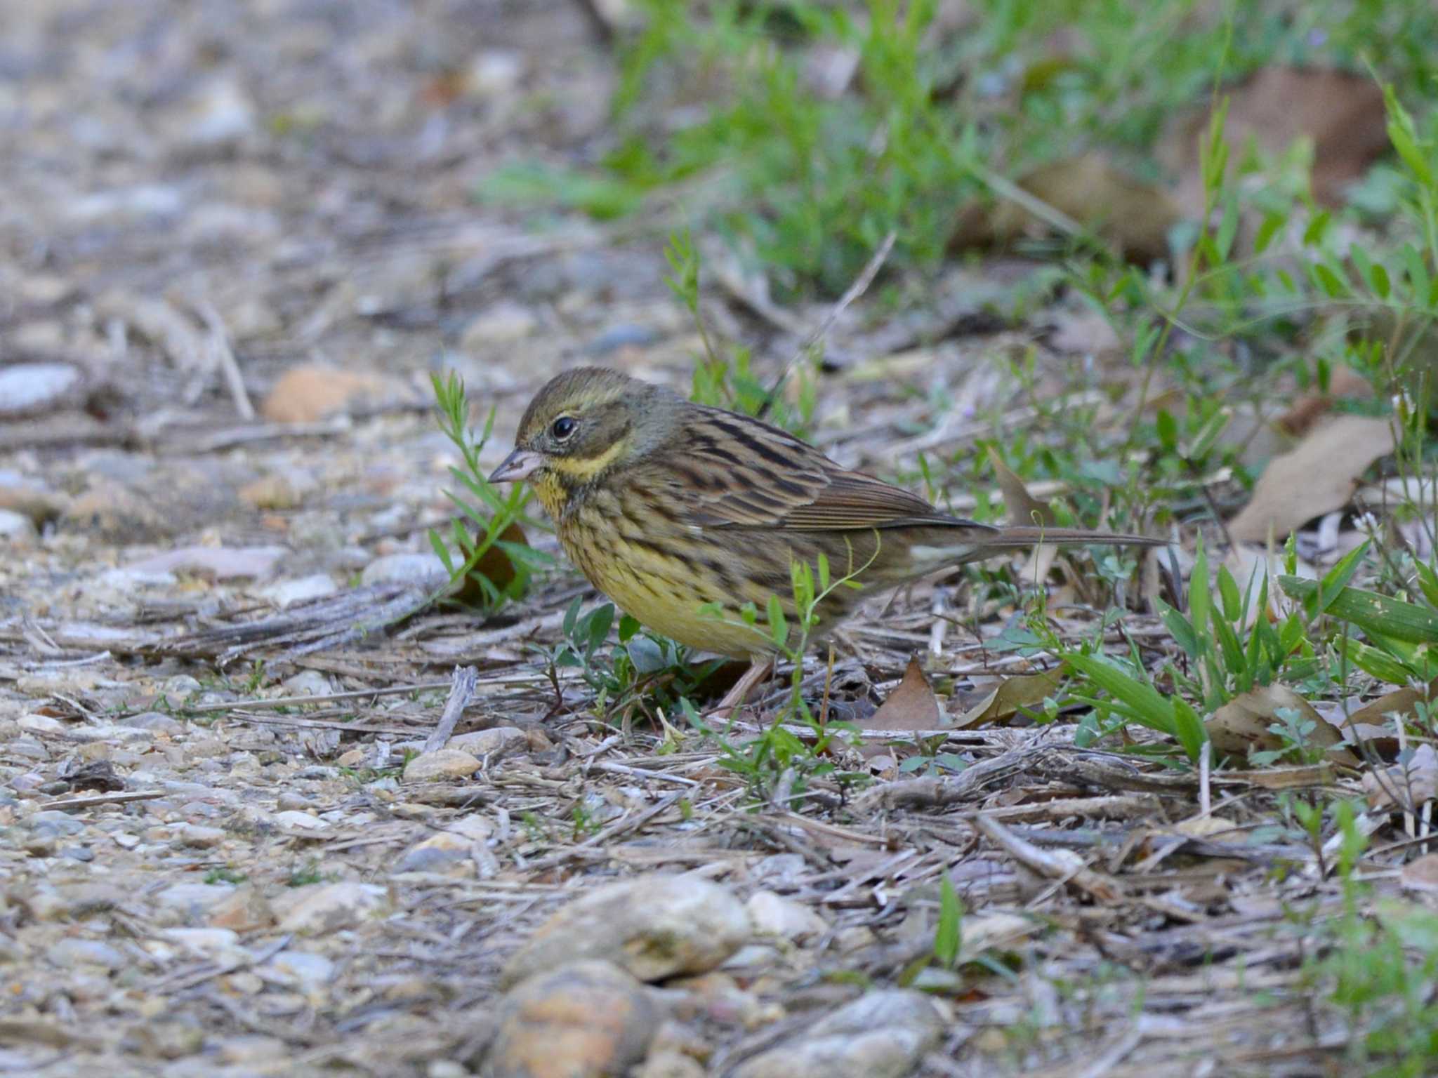
{"type": "Polygon", "coordinates": [[[690,875],[641,875],[558,910],[510,956],[502,985],[577,959],[605,959],[640,980],[705,973],[742,947],[754,924],[728,887],[690,875]]]}

